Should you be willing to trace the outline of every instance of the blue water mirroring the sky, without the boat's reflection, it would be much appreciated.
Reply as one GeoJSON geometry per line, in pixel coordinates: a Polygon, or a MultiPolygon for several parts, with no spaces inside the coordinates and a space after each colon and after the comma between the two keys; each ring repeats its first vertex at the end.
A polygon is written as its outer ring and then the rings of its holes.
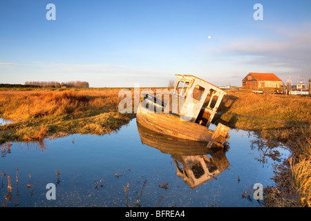
{"type": "MultiPolygon", "coordinates": [[[[260,206],[241,195],[255,183],[264,187],[274,184],[270,180],[274,162],[269,157],[265,164],[255,160],[262,153],[250,148],[255,139],[252,134],[249,137],[247,131],[231,130],[229,135],[230,148],[225,157],[230,165],[216,179],[194,189],[176,175],[172,155],[142,144],[135,119],[111,135],[70,135],[46,140],[44,151],[39,144],[12,143],[11,153],[0,159],[0,171],[7,174],[3,176],[4,186],[0,186],[0,202],[5,202],[3,195],[10,175],[13,197],[9,206],[14,206],[16,199],[19,206],[126,206],[124,185],[129,183],[129,204],[133,204],[144,180],[147,183],[142,191],[142,206],[156,206],[161,196],[160,206],[260,206]],[[60,186],[56,188],[57,199],[49,201],[45,196],[46,184],[56,184],[55,170],[60,171],[60,186]],[[27,188],[29,173],[34,184],[32,196],[27,188]],[[159,186],[164,182],[168,189],[159,186]]],[[[283,157],[289,154],[282,148],[278,150],[283,157]]]]}

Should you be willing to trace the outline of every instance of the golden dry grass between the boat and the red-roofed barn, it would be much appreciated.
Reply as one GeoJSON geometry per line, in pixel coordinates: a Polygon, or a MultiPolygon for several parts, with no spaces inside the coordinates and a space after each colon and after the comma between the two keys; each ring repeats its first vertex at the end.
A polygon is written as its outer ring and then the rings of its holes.
{"type": "Polygon", "coordinates": [[[215,120],[233,128],[262,130],[311,124],[311,97],[229,92],[215,120]]]}

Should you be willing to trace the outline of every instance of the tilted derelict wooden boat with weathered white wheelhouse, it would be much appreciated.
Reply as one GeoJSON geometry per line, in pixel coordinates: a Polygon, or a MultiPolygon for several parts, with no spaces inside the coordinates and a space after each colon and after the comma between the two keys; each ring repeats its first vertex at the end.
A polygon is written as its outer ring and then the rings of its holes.
{"type": "Polygon", "coordinates": [[[166,102],[149,94],[140,97],[137,122],[173,137],[225,142],[229,127],[219,123],[215,131],[209,129],[225,91],[193,75],[176,77],[173,93],[169,93],[166,102]]]}

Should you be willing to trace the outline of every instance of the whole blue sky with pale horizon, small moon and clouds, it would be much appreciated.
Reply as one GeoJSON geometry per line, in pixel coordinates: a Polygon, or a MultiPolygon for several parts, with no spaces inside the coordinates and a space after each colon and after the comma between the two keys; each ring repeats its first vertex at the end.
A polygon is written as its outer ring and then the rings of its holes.
{"type": "Polygon", "coordinates": [[[242,86],[248,73],[296,84],[311,78],[310,9],[310,0],[0,0],[0,84],[153,87],[180,74],[242,86]]]}

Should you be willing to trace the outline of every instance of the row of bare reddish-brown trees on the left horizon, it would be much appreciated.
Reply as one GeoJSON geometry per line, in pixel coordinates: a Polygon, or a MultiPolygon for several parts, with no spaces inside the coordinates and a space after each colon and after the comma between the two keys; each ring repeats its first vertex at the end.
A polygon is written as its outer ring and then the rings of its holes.
{"type": "Polygon", "coordinates": [[[39,86],[42,88],[53,87],[53,88],[88,88],[89,84],[87,81],[68,81],[59,83],[58,81],[26,81],[25,85],[39,86]]]}

